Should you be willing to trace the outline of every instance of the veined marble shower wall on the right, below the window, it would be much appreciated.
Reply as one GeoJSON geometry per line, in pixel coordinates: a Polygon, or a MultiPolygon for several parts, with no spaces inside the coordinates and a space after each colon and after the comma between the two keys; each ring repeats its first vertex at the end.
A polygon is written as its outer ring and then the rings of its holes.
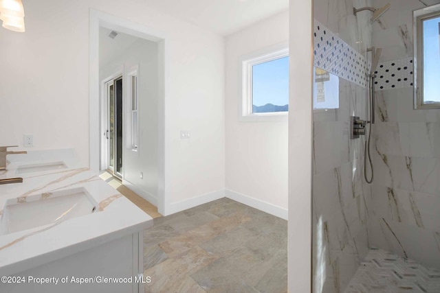
{"type": "MultiPolygon", "coordinates": [[[[373,25],[382,64],[412,60],[412,10],[438,0],[374,0],[391,8],[373,25]]],[[[372,150],[375,180],[369,239],[425,266],[440,268],[440,110],[413,110],[412,80],[377,89],[372,150]]]]}

